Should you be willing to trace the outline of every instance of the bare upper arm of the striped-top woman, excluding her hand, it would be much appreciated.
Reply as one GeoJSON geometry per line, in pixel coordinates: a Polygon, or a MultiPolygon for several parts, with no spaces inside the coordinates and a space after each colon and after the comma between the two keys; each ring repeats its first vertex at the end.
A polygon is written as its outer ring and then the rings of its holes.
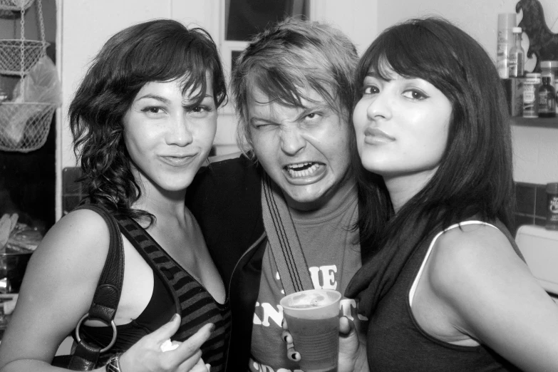
{"type": "Polygon", "coordinates": [[[49,364],[91,305],[108,242],[108,227],[88,210],[72,212],[46,234],[1,342],[1,371],[57,370],[49,364]]]}

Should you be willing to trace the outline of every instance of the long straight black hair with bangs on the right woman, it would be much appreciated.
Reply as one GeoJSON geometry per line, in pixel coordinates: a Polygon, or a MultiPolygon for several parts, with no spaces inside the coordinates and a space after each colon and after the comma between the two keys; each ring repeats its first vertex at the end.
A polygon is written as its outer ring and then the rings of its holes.
{"type": "Polygon", "coordinates": [[[373,214],[361,213],[368,243],[380,249],[403,227],[420,220],[419,240],[433,229],[473,216],[500,219],[511,228],[515,195],[510,123],[500,77],[486,51],[444,19],[411,19],[373,41],[358,64],[356,82],[362,84],[370,70],[387,79],[388,69],[433,84],[450,100],[453,115],[440,167],[391,217],[383,237],[367,228],[376,223],[369,217],[373,214]]]}

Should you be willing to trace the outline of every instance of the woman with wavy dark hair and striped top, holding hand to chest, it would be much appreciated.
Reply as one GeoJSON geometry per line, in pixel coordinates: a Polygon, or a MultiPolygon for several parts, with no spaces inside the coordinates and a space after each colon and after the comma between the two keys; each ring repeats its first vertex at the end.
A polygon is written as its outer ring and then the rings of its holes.
{"type": "MultiPolygon", "coordinates": [[[[123,239],[118,336],[101,355],[110,357],[107,371],[224,369],[228,301],[184,200],[226,98],[211,36],[155,20],[110,38],[71,103],[85,204],[113,215],[123,239]],[[168,343],[175,350],[161,348],[168,343]]],[[[88,312],[113,238],[118,232],[110,236],[91,209],[70,212],[46,234],[2,339],[2,372],[60,371],[51,361],[88,312]]],[[[81,333],[100,348],[113,337],[111,326],[89,318],[81,333]]]]}

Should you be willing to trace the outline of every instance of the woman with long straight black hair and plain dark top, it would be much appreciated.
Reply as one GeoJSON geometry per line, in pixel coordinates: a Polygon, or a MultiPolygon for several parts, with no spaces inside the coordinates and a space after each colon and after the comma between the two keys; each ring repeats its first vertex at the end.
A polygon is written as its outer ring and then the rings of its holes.
{"type": "Polygon", "coordinates": [[[413,19],[373,41],[357,81],[358,153],[393,206],[346,291],[370,320],[371,369],[557,371],[556,305],[510,234],[510,121],[491,58],[448,21],[413,19]]]}

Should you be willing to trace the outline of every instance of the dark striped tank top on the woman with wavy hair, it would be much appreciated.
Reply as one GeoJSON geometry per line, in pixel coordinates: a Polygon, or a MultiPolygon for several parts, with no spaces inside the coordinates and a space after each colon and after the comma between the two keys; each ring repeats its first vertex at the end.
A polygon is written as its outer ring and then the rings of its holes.
{"type": "MultiPolygon", "coordinates": [[[[174,336],[185,341],[207,323],[215,324],[212,336],[202,345],[202,358],[210,363],[212,372],[224,371],[230,331],[229,300],[219,304],[194,277],[175,262],[164,249],[133,219],[115,216],[120,232],[138,250],[153,269],[153,294],[142,314],[128,324],[117,326],[117,339],[108,354],[128,350],[143,336],[170,321],[175,313],[182,322],[174,336]]],[[[113,336],[111,327],[82,326],[83,335],[106,346],[113,336]]]]}

